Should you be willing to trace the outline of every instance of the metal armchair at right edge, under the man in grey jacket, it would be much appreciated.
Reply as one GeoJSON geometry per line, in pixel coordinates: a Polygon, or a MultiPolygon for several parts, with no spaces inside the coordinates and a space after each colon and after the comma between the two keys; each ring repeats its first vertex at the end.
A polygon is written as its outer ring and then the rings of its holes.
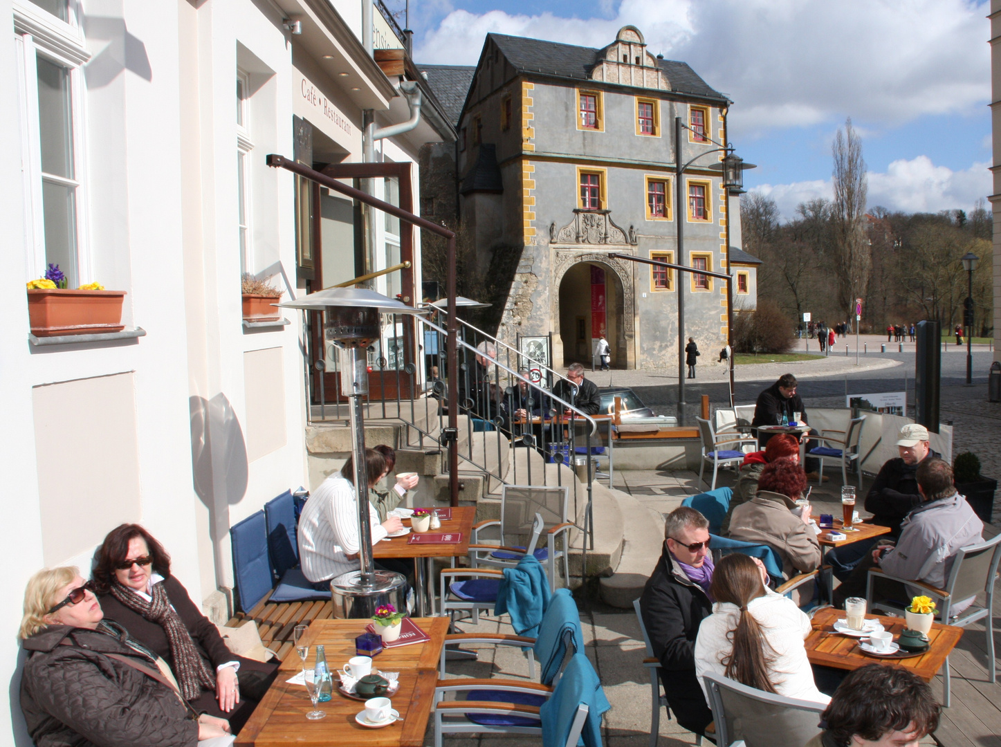
{"type": "MultiPolygon", "coordinates": [[[[992,537],[987,542],[960,548],[953,559],[945,589],[936,589],[920,581],[890,576],[881,569],[872,568],[869,570],[869,577],[866,581],[866,600],[870,609],[880,609],[903,615],[907,603],[902,604],[899,600],[884,599],[882,595],[877,594],[877,582],[893,581],[920,589],[922,594],[931,597],[937,605],[935,616],[942,623],[966,627],[977,620],[986,620],[984,627],[987,628],[987,669],[993,684],[997,682],[997,673],[994,663],[994,619],[991,611],[994,609],[994,584],[997,581],[999,561],[1001,561],[1001,534],[992,537]],[[951,614],[951,607],[954,604],[975,597],[981,592],[986,595],[985,604],[982,607],[974,602],[958,615],[951,614]]],[[[899,587],[897,588],[899,589],[899,587]]],[[[948,708],[951,696],[949,657],[946,657],[945,660],[945,673],[942,679],[944,681],[942,705],[948,708]]]]}

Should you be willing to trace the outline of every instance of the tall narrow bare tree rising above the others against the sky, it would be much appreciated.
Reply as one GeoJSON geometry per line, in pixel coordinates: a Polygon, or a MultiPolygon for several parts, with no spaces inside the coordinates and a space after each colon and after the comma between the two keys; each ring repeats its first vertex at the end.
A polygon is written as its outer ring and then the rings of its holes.
{"type": "Polygon", "coordinates": [[[844,131],[838,130],[831,150],[838,303],[851,313],[855,299],[865,295],[872,270],[872,249],[865,232],[868,176],[862,158],[862,140],[852,127],[851,117],[845,121],[844,131]]]}

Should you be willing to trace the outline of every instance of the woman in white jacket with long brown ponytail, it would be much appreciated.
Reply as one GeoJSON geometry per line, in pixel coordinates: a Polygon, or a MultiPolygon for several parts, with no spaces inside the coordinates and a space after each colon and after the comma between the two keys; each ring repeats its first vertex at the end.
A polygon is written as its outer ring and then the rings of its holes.
{"type": "Polygon", "coordinates": [[[787,597],[762,583],[754,560],[734,553],[713,573],[713,614],[695,642],[695,668],[705,693],[706,672],[787,698],[826,705],[817,689],[803,642],[810,618],[787,597]]]}

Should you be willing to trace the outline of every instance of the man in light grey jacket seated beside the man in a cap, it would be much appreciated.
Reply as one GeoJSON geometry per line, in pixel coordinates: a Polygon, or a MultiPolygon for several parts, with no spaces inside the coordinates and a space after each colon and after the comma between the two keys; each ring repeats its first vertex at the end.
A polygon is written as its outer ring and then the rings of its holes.
{"type": "MultiPolygon", "coordinates": [[[[896,544],[890,541],[878,544],[871,556],[835,589],[835,607],[842,607],[848,597],[865,595],[866,578],[874,566],[891,576],[941,589],[949,578],[956,552],[983,542],[984,524],[956,492],[948,462],[926,459],[918,466],[916,477],[923,503],[904,519],[896,544]]],[[[962,612],[970,601],[961,600],[951,609],[962,612]]]]}

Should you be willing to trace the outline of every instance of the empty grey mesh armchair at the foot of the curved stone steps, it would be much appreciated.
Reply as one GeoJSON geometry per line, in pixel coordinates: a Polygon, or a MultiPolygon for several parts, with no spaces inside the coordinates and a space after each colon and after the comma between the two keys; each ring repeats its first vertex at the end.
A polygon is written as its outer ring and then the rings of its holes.
{"type": "Polygon", "coordinates": [[[563,487],[506,485],[500,492],[500,519],[479,522],[472,528],[469,565],[472,568],[492,566],[513,568],[525,554],[526,540],[533,529],[533,518],[541,515],[545,522],[546,547],[535,551],[536,559],[547,567],[550,591],[557,589],[557,560],[563,559],[564,579],[570,582],[570,534],[575,524],[567,513],[570,490],[563,487]],[[480,533],[487,527],[499,527],[499,544],[481,543],[480,533]],[[557,540],[561,547],[557,548],[557,540]]]}

